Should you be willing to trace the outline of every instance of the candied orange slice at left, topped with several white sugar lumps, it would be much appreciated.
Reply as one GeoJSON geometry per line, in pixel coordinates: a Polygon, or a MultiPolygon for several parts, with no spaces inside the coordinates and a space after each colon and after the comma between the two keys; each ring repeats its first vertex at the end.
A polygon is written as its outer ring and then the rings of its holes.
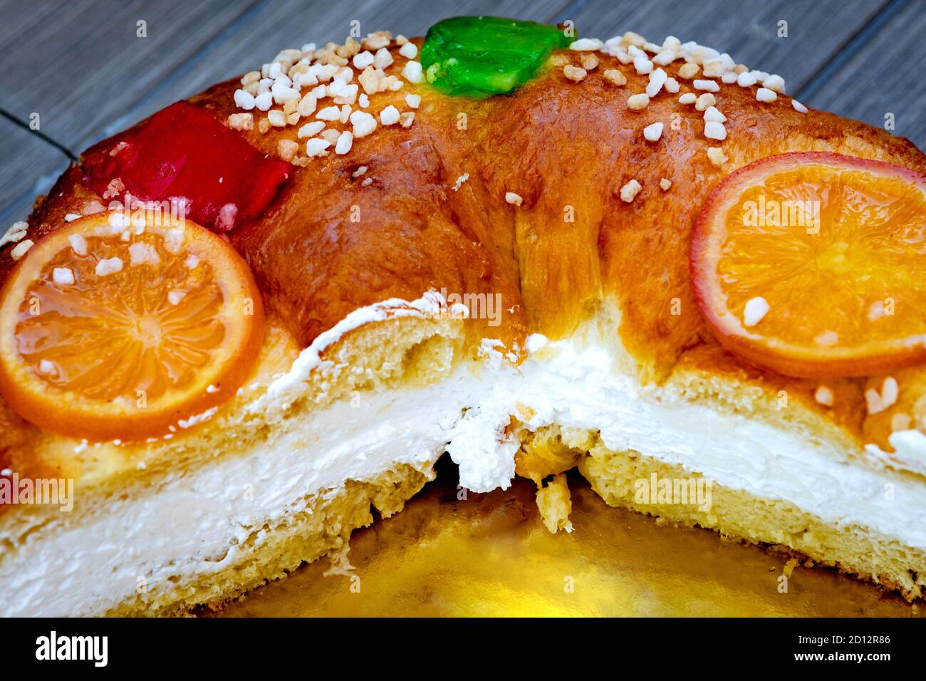
{"type": "Polygon", "coordinates": [[[0,291],[0,393],[28,421],[94,440],[165,435],[247,377],[263,340],[247,264],[204,227],[139,212],[62,226],[0,291]]]}

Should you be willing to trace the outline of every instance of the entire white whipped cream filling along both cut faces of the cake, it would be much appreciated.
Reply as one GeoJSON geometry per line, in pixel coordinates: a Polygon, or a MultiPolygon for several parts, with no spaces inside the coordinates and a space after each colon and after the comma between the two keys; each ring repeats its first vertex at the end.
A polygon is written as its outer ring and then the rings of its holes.
{"type": "MultiPolygon", "coordinates": [[[[357,310],[319,336],[271,390],[296,391],[310,372],[330,369],[321,353],[350,329],[442,309],[439,296],[425,296],[357,310]]],[[[265,525],[304,511],[308,496],[334,495],[345,480],[373,479],[400,463],[427,467],[444,450],[459,466],[461,485],[477,492],[507,487],[518,449],[506,430],[512,415],[531,430],[551,423],[595,430],[607,448],[633,449],[720,486],[786,499],[836,526],[858,524],[926,548],[926,487],[918,481],[644,388],[614,371],[602,343],[533,335],[519,367],[497,346],[482,344],[487,361],[478,368],[461,366],[422,388],[334,403],[278,428],[250,453],[179,473],[149,494],[115,498],[92,522],[31,534],[0,557],[3,614],[101,613],[138,589],[218,572],[265,541],[265,525]]],[[[921,457],[922,442],[902,436],[896,445],[921,457]]]]}

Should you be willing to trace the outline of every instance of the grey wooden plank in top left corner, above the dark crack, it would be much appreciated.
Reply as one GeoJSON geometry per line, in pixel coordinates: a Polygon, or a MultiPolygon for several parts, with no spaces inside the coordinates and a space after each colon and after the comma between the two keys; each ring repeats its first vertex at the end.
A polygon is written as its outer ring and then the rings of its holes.
{"type": "Polygon", "coordinates": [[[0,8],[0,107],[72,148],[122,114],[253,6],[223,0],[37,2],[0,8]],[[136,35],[146,22],[147,37],[136,35]]]}

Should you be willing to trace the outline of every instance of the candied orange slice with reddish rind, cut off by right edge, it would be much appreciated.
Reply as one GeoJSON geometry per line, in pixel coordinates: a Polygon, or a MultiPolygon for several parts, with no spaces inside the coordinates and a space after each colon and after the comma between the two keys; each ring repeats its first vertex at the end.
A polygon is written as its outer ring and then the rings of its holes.
{"type": "Polygon", "coordinates": [[[708,196],[694,292],[728,350],[798,377],[926,360],[926,177],[881,161],[782,154],[708,196]]]}

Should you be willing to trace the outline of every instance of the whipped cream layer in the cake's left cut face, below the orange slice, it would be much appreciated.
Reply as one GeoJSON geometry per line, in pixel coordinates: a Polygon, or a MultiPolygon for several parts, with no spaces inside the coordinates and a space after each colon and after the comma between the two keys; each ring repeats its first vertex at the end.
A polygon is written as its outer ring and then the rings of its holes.
{"type": "Polygon", "coordinates": [[[0,614],[102,614],[137,589],[219,572],[266,541],[265,525],[305,511],[310,495],[334,496],[398,463],[432,465],[467,403],[457,384],[471,380],[337,402],[251,452],[113,498],[90,522],[31,533],[0,555],[0,614]]]}

